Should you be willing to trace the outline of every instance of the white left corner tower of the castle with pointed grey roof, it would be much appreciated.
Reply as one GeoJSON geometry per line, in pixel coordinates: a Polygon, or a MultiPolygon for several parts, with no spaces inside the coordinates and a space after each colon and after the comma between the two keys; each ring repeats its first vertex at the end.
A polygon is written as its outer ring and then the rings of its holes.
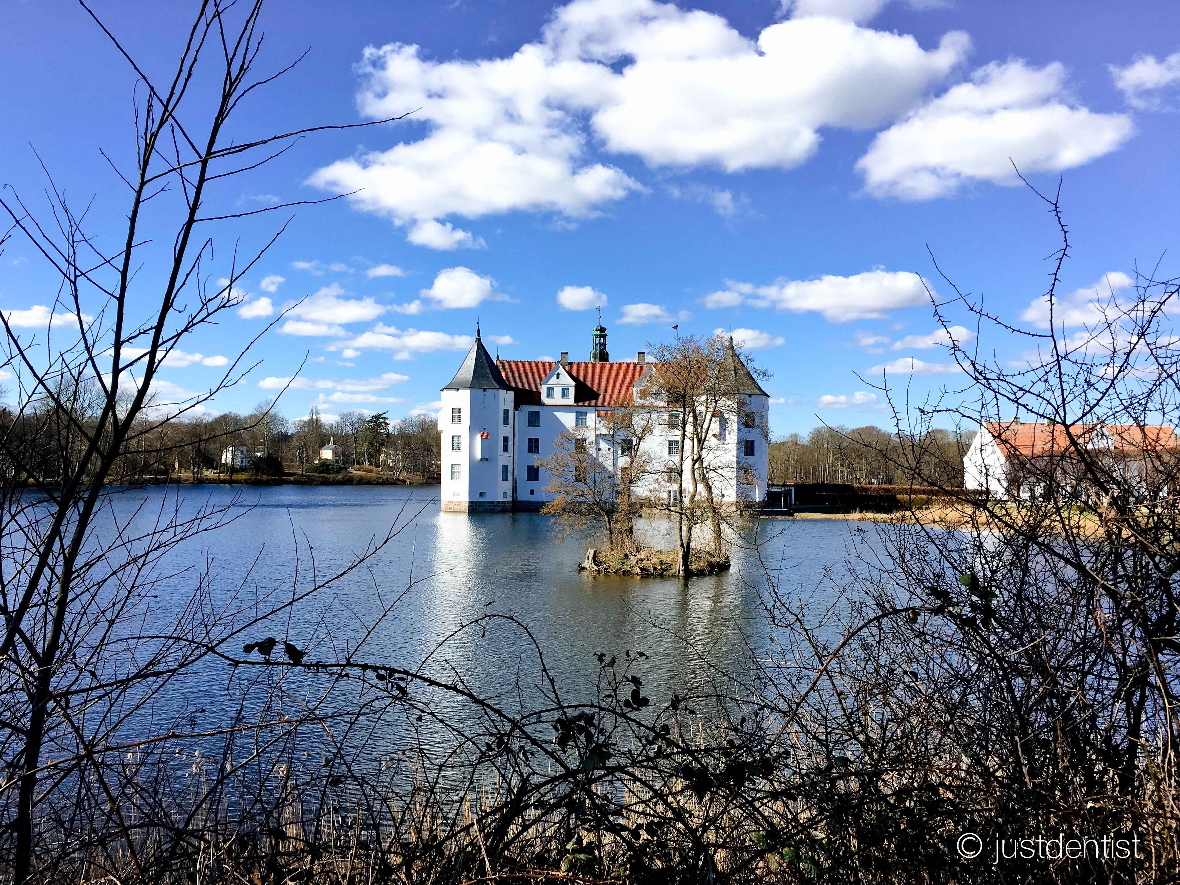
{"type": "Polygon", "coordinates": [[[442,388],[442,510],[512,510],[514,394],[484,347],[476,343],[442,388]]]}

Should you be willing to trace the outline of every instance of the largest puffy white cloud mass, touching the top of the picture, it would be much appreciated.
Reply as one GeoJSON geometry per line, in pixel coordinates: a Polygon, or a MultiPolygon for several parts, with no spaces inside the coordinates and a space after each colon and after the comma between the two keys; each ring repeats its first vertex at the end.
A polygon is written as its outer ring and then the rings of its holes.
{"type": "Polygon", "coordinates": [[[651,166],[796,166],[815,152],[822,127],[878,126],[910,110],[969,45],[952,32],[927,51],[909,35],[814,17],[748,39],[721,15],[673,4],[573,0],[537,40],[502,58],[367,48],[362,113],[413,110],[400,125],[420,129],[310,182],[356,191],[355,206],[408,228],[412,242],[453,248],[467,244],[452,242],[466,231],[433,227],[447,216],[579,218],[642,190],[589,156],[594,145],[651,166]]]}

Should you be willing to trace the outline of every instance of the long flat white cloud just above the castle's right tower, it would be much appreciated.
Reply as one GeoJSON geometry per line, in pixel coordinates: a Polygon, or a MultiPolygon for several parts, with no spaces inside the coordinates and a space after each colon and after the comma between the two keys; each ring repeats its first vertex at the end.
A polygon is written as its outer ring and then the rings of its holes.
{"type": "Polygon", "coordinates": [[[868,270],[856,276],[819,280],[780,277],[771,286],[726,280],[727,289],[704,296],[706,307],[774,307],[779,310],[815,310],[832,322],[872,320],[887,310],[930,303],[929,283],[906,270],[868,270]]]}

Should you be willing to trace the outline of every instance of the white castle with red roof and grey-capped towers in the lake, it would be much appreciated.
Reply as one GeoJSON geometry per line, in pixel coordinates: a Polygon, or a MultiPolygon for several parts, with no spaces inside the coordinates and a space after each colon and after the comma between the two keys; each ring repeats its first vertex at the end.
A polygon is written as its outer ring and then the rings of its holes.
{"type": "MultiPolygon", "coordinates": [[[[732,339],[729,350],[727,371],[734,373],[739,402],[733,414],[715,415],[706,447],[715,477],[710,481],[720,500],[756,505],[766,498],[769,395],[738,356],[732,339]]],[[[610,362],[601,320],[589,362],[570,362],[565,352],[553,362],[493,360],[477,327],[476,343],[442,388],[442,510],[539,510],[551,498],[540,461],[553,453],[565,431],[592,438],[599,461],[617,476],[634,440],[611,433],[608,419],[620,405],[644,401],[641,392],[653,387],[656,365],[643,352],[635,362],[610,362]]],[[[671,467],[680,454],[680,413],[657,402],[650,408],[663,420],[653,421],[655,430],[642,445],[649,463],[667,459],[671,467]]],[[[670,470],[654,472],[637,492],[671,500],[688,492],[675,489],[680,481],[670,470]]]]}

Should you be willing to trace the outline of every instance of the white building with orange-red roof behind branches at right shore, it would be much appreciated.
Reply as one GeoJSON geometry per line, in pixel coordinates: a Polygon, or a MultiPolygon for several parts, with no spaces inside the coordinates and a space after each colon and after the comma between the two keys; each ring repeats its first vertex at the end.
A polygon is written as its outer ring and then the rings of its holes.
{"type": "Polygon", "coordinates": [[[1163,459],[1180,452],[1167,425],[1063,424],[988,421],[963,458],[963,486],[1001,500],[1050,497],[1087,500],[1097,497],[1079,458],[1093,455],[1126,491],[1158,497],[1163,459]]]}

